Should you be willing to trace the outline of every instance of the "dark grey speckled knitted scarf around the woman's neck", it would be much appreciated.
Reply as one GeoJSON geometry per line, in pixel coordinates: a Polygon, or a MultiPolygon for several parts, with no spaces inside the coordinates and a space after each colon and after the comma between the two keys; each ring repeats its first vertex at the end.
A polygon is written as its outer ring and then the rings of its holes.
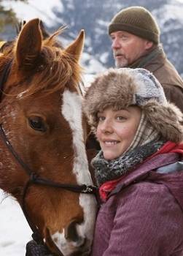
{"type": "Polygon", "coordinates": [[[101,186],[106,181],[120,178],[120,176],[123,176],[133,170],[136,165],[139,165],[144,161],[144,159],[147,159],[147,157],[159,150],[164,143],[165,142],[163,140],[159,140],[157,142],[153,141],[143,146],[133,148],[133,150],[122,154],[121,157],[110,161],[104,159],[103,152],[100,151],[91,162],[95,168],[98,186],[101,186]]]}

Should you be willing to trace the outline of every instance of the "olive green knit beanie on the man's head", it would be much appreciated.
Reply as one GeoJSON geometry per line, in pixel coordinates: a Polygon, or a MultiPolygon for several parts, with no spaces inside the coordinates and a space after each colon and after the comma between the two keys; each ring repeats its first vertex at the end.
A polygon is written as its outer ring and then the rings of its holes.
{"type": "Polygon", "coordinates": [[[144,7],[128,7],[118,12],[109,24],[109,34],[115,31],[127,31],[155,44],[160,42],[159,26],[144,7]]]}

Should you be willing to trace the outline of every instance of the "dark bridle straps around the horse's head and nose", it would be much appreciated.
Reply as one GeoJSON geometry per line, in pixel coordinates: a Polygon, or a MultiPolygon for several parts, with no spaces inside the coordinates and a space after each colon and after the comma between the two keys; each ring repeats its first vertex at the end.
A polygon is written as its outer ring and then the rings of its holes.
{"type": "MultiPolygon", "coordinates": [[[[9,61],[2,72],[2,75],[0,76],[0,101],[3,94],[3,87],[4,83],[6,83],[10,69],[12,66],[12,60],[9,61]]],[[[96,198],[98,199],[98,188],[95,186],[90,186],[86,184],[82,185],[75,185],[75,184],[62,184],[55,181],[51,181],[47,178],[42,178],[34,170],[31,170],[28,165],[26,165],[25,162],[23,162],[23,159],[20,158],[20,156],[17,154],[17,152],[12,147],[12,144],[9,142],[7,135],[4,132],[4,128],[2,124],[0,124],[0,135],[2,140],[4,141],[4,144],[7,146],[8,150],[11,152],[15,160],[18,162],[18,164],[23,167],[23,170],[25,170],[26,174],[28,175],[28,181],[26,182],[26,185],[23,187],[23,195],[21,199],[21,208],[23,210],[23,214],[26,217],[26,220],[28,222],[28,225],[31,227],[31,230],[33,231],[32,238],[34,241],[36,241],[37,244],[44,244],[42,235],[39,231],[39,228],[34,224],[34,222],[31,221],[31,218],[28,215],[28,211],[26,210],[26,195],[28,192],[28,188],[35,184],[35,185],[41,185],[45,187],[53,187],[58,189],[66,189],[71,192],[76,193],[83,193],[83,194],[93,194],[96,195],[96,198]]]]}

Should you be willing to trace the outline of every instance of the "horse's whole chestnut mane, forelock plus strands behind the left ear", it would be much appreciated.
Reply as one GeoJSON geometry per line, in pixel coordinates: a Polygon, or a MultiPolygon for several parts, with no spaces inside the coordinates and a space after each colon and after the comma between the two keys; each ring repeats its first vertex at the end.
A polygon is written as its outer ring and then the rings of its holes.
{"type": "MultiPolygon", "coordinates": [[[[32,64],[31,57],[28,58],[26,66],[29,65],[30,67],[32,65],[31,69],[24,71],[22,67],[20,68],[23,76],[17,81],[16,85],[30,80],[32,82],[26,91],[21,92],[24,97],[33,95],[38,91],[42,91],[43,95],[50,94],[63,89],[65,86],[69,86],[69,83],[77,88],[77,84],[81,80],[80,72],[82,68],[71,54],[59,47],[58,41],[56,40],[58,34],[61,34],[61,30],[56,31],[47,39],[42,40],[42,50],[36,59],[36,63],[32,64]],[[30,63],[28,63],[29,61],[30,63]]],[[[16,69],[16,40],[9,47],[11,49],[7,50],[7,53],[5,51],[3,56],[1,56],[0,73],[3,71],[4,65],[9,63],[12,58],[12,69],[16,69]]],[[[15,84],[10,86],[15,86],[15,84]]]]}

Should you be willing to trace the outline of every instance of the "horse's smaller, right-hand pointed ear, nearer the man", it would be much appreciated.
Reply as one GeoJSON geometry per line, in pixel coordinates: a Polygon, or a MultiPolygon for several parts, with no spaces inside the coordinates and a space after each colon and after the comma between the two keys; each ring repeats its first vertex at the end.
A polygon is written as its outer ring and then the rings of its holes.
{"type": "Polygon", "coordinates": [[[73,55],[74,59],[79,61],[79,57],[82,54],[82,49],[83,49],[83,46],[84,46],[84,42],[85,42],[85,31],[82,29],[80,31],[79,36],[77,37],[77,39],[75,39],[74,42],[72,42],[71,45],[69,45],[66,48],[66,52],[73,55]]]}

